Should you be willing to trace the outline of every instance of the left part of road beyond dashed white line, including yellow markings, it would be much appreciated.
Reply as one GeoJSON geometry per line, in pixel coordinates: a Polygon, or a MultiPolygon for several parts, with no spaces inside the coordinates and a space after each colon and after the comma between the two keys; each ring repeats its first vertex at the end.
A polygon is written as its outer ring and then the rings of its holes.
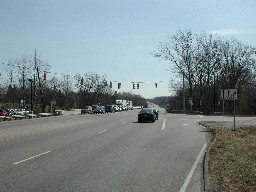
{"type": "Polygon", "coordinates": [[[1,164],[7,166],[9,159],[18,161],[37,154],[38,151],[47,151],[49,148],[63,147],[81,139],[90,139],[103,131],[104,124],[107,122],[110,122],[108,129],[111,129],[127,121],[119,116],[106,117],[104,119],[103,115],[88,116],[88,118],[73,116],[49,118],[48,121],[42,119],[41,122],[38,119],[34,125],[23,125],[24,137],[20,137],[21,127],[12,125],[10,127],[14,130],[8,128],[9,136],[6,137],[7,140],[3,140],[7,142],[0,142],[1,164]]]}

